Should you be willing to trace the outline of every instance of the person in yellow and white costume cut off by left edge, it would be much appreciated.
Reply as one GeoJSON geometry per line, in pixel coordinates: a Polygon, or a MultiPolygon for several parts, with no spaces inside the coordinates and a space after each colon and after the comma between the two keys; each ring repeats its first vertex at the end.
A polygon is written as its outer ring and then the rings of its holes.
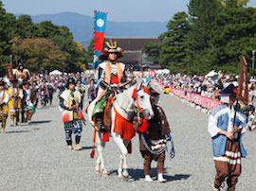
{"type": "Polygon", "coordinates": [[[9,94],[8,91],[5,90],[5,82],[0,80],[0,121],[2,122],[1,131],[4,132],[6,130],[6,122],[9,113],[9,94]]]}

